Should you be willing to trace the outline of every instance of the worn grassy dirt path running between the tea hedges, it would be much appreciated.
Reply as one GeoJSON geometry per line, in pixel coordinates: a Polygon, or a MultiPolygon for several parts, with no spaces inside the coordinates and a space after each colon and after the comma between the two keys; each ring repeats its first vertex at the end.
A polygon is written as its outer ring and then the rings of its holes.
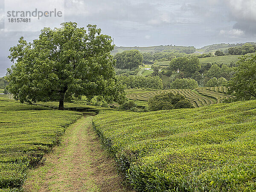
{"type": "Polygon", "coordinates": [[[25,191],[127,191],[114,161],[102,150],[91,119],[83,116],[66,130],[61,145],[46,156],[44,166],[29,172],[25,191]]]}

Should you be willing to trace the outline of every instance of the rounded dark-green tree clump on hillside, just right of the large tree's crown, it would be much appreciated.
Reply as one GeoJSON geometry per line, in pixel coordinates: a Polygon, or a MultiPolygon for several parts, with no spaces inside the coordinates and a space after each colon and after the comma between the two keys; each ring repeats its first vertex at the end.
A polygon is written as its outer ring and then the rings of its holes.
{"type": "Polygon", "coordinates": [[[116,68],[137,69],[143,63],[143,55],[138,50],[124,51],[114,56],[116,68]]]}

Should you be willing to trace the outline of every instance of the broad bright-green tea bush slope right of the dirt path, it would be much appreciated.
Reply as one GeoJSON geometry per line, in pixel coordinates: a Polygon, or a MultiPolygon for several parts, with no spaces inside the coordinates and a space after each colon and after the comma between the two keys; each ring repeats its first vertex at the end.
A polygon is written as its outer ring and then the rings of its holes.
{"type": "Polygon", "coordinates": [[[93,126],[137,191],[256,191],[256,100],[101,112],[93,126]]]}

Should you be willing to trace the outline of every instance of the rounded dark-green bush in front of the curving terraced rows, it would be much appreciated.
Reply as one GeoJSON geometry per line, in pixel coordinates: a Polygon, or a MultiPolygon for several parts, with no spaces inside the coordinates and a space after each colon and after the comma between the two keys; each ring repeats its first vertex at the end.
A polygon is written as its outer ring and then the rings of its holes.
{"type": "Polygon", "coordinates": [[[161,93],[155,95],[148,101],[150,111],[179,109],[179,108],[194,108],[191,102],[185,99],[184,96],[172,92],[161,93]]]}

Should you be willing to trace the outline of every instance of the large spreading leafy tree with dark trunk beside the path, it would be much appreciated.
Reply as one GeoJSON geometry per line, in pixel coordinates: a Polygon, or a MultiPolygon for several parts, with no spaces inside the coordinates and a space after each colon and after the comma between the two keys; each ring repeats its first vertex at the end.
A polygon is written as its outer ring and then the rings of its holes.
{"type": "Polygon", "coordinates": [[[96,25],[86,30],[72,22],[42,29],[33,42],[21,37],[10,48],[15,64],[8,69],[7,88],[20,102],[58,101],[59,110],[64,109],[64,100],[81,95],[118,102],[124,90],[115,77],[111,42],[96,25]]]}

